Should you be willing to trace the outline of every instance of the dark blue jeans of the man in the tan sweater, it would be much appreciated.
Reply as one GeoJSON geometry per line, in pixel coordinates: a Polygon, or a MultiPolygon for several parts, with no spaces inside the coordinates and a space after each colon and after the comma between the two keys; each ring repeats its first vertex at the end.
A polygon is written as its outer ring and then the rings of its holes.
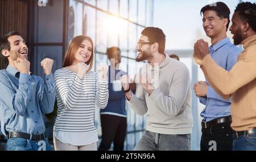
{"type": "Polygon", "coordinates": [[[256,135],[233,134],[233,151],[256,151],[256,135]]]}

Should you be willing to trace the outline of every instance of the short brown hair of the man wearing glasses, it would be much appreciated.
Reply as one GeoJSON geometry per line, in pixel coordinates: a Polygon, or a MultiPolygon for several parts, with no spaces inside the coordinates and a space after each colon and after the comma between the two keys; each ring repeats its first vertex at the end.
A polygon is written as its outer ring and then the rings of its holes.
{"type": "Polygon", "coordinates": [[[166,35],[164,35],[163,31],[160,28],[157,27],[146,27],[141,32],[142,35],[147,36],[148,40],[151,43],[158,43],[159,53],[164,53],[166,49],[166,35]]]}

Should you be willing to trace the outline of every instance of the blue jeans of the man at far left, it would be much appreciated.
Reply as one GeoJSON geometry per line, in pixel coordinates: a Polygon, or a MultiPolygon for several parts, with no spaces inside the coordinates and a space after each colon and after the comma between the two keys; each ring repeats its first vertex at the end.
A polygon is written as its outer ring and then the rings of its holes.
{"type": "Polygon", "coordinates": [[[24,138],[10,138],[7,140],[8,151],[51,151],[52,147],[45,140],[28,140],[24,138]]]}

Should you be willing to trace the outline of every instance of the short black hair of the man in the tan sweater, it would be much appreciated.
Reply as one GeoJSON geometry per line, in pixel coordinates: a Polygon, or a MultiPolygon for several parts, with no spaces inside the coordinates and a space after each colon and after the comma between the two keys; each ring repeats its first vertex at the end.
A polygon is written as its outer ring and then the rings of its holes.
{"type": "Polygon", "coordinates": [[[235,10],[240,18],[245,20],[249,26],[256,32],[256,4],[250,2],[242,2],[237,5],[235,10]]]}

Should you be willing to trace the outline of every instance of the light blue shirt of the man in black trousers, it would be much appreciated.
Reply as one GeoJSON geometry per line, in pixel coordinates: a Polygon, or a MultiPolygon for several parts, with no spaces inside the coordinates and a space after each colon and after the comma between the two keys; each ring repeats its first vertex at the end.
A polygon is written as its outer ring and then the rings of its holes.
{"type": "MultiPolygon", "coordinates": [[[[217,44],[211,45],[209,52],[216,64],[229,71],[237,63],[237,57],[242,52],[242,49],[232,44],[229,38],[225,38],[217,44]]],[[[209,84],[208,81],[207,83],[209,84]]],[[[210,85],[208,86],[207,98],[200,97],[199,100],[200,103],[205,105],[204,110],[201,112],[201,117],[204,118],[204,121],[211,121],[212,119],[230,115],[231,101],[223,99],[210,85]]]]}

